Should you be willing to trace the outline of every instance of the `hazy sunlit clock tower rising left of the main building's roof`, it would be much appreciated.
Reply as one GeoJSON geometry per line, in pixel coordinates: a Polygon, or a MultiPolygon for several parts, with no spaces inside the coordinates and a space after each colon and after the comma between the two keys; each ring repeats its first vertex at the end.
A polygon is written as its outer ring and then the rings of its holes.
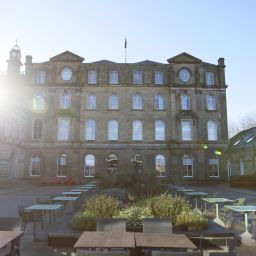
{"type": "Polygon", "coordinates": [[[12,47],[12,49],[10,51],[9,60],[7,60],[8,76],[19,76],[20,75],[20,66],[22,66],[22,63],[20,60],[21,60],[20,48],[16,42],[16,44],[12,47]]]}

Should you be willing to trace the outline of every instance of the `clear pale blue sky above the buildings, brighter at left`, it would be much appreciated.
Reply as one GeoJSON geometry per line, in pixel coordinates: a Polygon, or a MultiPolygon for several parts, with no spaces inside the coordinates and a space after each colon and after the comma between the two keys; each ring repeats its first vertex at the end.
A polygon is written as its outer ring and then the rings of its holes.
{"type": "Polygon", "coordinates": [[[123,62],[125,36],[128,62],[224,57],[229,120],[256,112],[254,0],[0,0],[0,70],[16,38],[23,62],[66,50],[123,62]]]}

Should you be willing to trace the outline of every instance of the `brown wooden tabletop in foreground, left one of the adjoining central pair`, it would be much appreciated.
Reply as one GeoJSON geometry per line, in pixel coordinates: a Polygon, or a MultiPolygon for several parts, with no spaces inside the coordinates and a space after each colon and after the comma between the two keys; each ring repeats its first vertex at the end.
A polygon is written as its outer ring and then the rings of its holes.
{"type": "Polygon", "coordinates": [[[74,248],[135,248],[134,232],[83,232],[74,248]]]}

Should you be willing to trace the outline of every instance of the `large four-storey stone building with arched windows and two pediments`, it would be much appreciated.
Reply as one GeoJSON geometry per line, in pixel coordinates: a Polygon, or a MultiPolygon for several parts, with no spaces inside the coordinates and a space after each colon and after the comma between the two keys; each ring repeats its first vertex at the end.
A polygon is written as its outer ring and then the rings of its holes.
{"type": "Polygon", "coordinates": [[[222,178],[228,141],[224,59],[187,53],[166,64],[115,63],[63,52],[26,57],[24,176],[155,172],[222,178]]]}

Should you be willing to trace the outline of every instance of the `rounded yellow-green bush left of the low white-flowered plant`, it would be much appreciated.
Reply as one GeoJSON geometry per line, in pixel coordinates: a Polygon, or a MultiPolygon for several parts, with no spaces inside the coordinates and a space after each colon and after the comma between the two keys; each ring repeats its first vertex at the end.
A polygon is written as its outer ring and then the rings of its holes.
{"type": "Polygon", "coordinates": [[[120,211],[120,203],[117,198],[100,195],[88,199],[83,209],[83,215],[86,216],[111,218],[120,211]]]}

